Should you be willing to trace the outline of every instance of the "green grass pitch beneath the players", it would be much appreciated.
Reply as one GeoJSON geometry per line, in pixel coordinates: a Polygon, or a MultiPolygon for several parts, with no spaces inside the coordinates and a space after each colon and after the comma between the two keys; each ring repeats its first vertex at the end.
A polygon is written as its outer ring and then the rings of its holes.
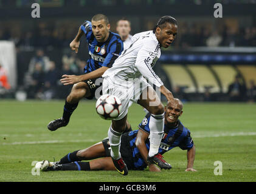
{"type": "MultiPolygon", "coordinates": [[[[40,172],[32,175],[32,162],[58,161],[107,136],[110,121],[95,112],[95,101],[81,101],[67,127],[50,132],[47,124],[59,118],[64,101],[0,101],[0,181],[256,181],[256,104],[187,103],[181,121],[190,129],[196,146],[194,169],[185,172],[186,151],[175,148],[164,158],[173,169],[161,173],[130,170],[40,172]],[[223,175],[215,175],[215,161],[223,175]]],[[[128,113],[133,130],[145,113],[134,104],[128,113]]]]}

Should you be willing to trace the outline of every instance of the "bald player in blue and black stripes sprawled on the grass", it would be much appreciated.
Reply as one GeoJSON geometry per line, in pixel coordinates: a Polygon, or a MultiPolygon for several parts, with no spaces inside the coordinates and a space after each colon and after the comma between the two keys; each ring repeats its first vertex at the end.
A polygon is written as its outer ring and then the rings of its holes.
{"type": "MultiPolygon", "coordinates": [[[[183,104],[179,99],[175,99],[172,103],[168,102],[165,106],[164,135],[157,157],[165,163],[162,154],[173,149],[173,147],[180,147],[182,150],[187,150],[187,169],[185,171],[196,171],[193,169],[195,145],[189,129],[185,128],[178,119],[182,115],[182,108],[183,104]]],[[[150,149],[150,141],[148,139],[150,135],[150,119],[151,115],[148,113],[139,124],[138,130],[123,133],[122,135],[120,152],[129,170],[144,170],[147,167],[147,156],[150,149]]],[[[41,168],[44,171],[116,170],[110,156],[110,149],[108,139],[103,139],[102,142],[94,144],[87,149],[68,153],[58,162],[41,161],[41,168]],[[91,161],[81,162],[82,160],[91,161]]],[[[150,164],[149,170],[153,172],[161,171],[154,164],[150,164]]]]}

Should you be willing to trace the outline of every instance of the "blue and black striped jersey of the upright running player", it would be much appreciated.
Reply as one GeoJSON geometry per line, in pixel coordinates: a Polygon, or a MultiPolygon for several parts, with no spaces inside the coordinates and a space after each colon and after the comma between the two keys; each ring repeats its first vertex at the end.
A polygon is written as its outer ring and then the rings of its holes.
{"type": "Polygon", "coordinates": [[[114,61],[123,51],[123,42],[120,36],[109,31],[108,39],[105,42],[98,42],[92,33],[90,21],[85,21],[80,28],[85,33],[89,49],[85,73],[93,72],[100,67],[112,67],[114,61]]]}

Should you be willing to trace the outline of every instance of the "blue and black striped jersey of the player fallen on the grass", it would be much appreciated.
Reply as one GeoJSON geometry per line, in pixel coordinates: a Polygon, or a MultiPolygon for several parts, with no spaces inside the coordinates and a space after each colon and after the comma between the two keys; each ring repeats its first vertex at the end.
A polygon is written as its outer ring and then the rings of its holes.
{"type": "MultiPolygon", "coordinates": [[[[150,133],[150,116],[150,113],[148,113],[139,124],[139,129],[144,130],[146,133],[150,133]]],[[[136,167],[138,170],[143,170],[145,167],[147,167],[147,164],[140,155],[139,149],[137,149],[135,144],[137,132],[138,130],[134,130],[128,133],[127,138],[130,144],[129,146],[133,152],[134,167],[136,167]]],[[[147,149],[150,150],[150,139],[147,139],[145,143],[147,149]]],[[[189,150],[193,147],[193,145],[194,143],[192,137],[190,136],[190,130],[184,127],[181,121],[178,121],[178,124],[173,128],[169,128],[167,125],[164,125],[164,135],[159,147],[159,153],[161,153],[161,155],[174,147],[180,147],[182,150],[189,150]]]]}

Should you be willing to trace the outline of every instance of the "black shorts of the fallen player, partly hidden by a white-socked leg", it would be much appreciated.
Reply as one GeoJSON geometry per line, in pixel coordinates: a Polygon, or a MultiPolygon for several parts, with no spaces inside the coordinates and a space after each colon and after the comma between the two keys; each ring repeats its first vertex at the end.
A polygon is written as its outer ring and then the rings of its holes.
{"type": "MultiPolygon", "coordinates": [[[[127,136],[125,133],[123,133],[121,137],[121,146],[120,146],[120,153],[123,158],[123,161],[125,161],[125,164],[128,168],[128,170],[137,170],[136,167],[134,167],[134,161],[133,161],[133,153],[131,150],[131,147],[129,146],[129,142],[127,141],[127,136]]],[[[105,153],[107,157],[111,157],[110,155],[110,146],[109,146],[109,139],[103,139],[102,140],[105,153]]]]}

